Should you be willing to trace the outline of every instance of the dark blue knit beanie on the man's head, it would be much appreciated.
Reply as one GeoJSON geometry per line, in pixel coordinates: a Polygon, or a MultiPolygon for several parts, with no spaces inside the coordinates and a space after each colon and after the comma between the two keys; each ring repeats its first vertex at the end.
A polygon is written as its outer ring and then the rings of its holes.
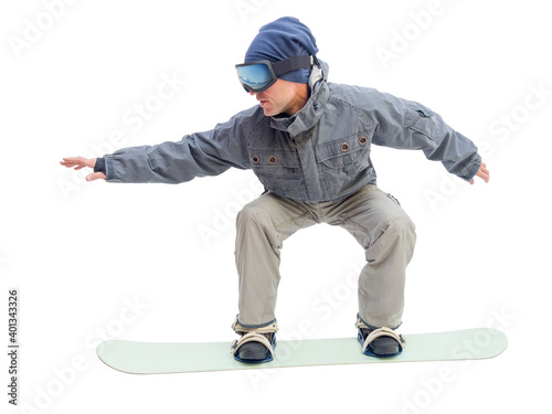
{"type": "MultiPolygon", "coordinates": [[[[295,18],[280,18],[261,28],[245,53],[245,63],[284,61],[289,57],[316,55],[318,47],[310,29],[295,18]]],[[[278,76],[280,79],[306,84],[310,70],[300,68],[278,76]]]]}

